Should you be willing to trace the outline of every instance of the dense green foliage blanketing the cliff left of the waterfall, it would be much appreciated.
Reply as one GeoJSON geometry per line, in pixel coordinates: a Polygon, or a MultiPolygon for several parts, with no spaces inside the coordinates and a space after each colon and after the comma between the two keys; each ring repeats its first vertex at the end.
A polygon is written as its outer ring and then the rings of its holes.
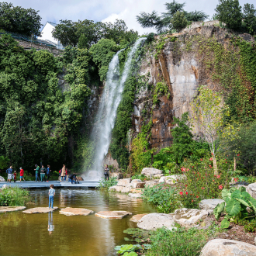
{"type": "Polygon", "coordinates": [[[86,49],[68,47],[55,58],[46,50],[26,51],[7,34],[0,38],[0,152],[15,168],[71,161],[67,142],[78,133],[90,94],[91,58],[86,49]],[[64,67],[68,85],[61,88],[64,67]]]}

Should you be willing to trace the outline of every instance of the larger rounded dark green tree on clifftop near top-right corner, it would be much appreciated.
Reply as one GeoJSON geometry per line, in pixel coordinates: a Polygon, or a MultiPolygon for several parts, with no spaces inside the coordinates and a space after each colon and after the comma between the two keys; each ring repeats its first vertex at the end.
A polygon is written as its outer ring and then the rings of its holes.
{"type": "Polygon", "coordinates": [[[238,0],[219,0],[216,6],[216,19],[226,23],[227,28],[238,30],[241,28],[243,14],[238,0]]]}

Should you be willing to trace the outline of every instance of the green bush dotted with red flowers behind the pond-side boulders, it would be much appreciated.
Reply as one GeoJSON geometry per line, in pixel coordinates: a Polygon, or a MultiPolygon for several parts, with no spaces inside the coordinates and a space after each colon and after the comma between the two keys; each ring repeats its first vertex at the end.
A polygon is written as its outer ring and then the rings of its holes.
{"type": "Polygon", "coordinates": [[[185,207],[198,207],[202,199],[220,198],[221,191],[229,188],[229,171],[219,169],[219,175],[214,175],[212,157],[184,161],[181,172],[184,177],[177,179],[177,189],[185,207]]]}

